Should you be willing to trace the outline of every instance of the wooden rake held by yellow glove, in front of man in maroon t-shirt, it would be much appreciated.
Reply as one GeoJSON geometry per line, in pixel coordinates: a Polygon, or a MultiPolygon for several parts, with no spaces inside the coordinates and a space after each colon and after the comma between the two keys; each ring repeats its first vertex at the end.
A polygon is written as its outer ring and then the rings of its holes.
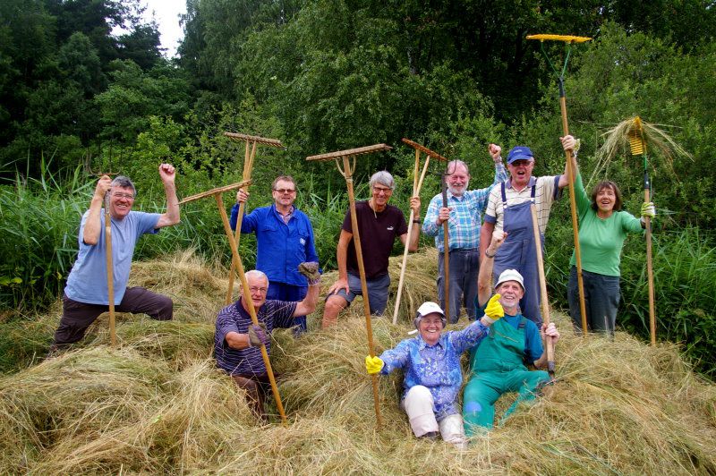
{"type": "MultiPolygon", "coordinates": [[[[361,235],[358,233],[358,218],[355,215],[355,196],[353,190],[353,173],[355,171],[355,157],[363,154],[371,154],[381,150],[390,150],[392,147],[386,144],[375,144],[372,146],[361,147],[358,149],[339,150],[328,154],[320,154],[318,156],[306,157],[306,160],[330,160],[336,161],[338,172],[345,178],[345,184],[348,187],[348,200],[351,210],[351,226],[353,228],[353,242],[355,247],[355,257],[358,261],[358,272],[361,275],[361,290],[363,298],[363,312],[365,313],[365,331],[368,335],[368,354],[375,356],[373,347],[373,327],[371,323],[371,304],[368,300],[368,285],[365,282],[365,268],[363,268],[363,255],[361,249],[361,235]],[[339,161],[340,159],[340,161],[339,161]],[[352,160],[351,160],[352,159],[352,160]],[[343,166],[341,166],[341,162],[343,166]]],[[[407,244],[405,245],[407,246],[407,244]]],[[[378,400],[378,376],[372,375],[373,384],[373,404],[375,406],[375,418],[378,429],[382,427],[383,421],[380,418],[380,404],[378,400]]]]}

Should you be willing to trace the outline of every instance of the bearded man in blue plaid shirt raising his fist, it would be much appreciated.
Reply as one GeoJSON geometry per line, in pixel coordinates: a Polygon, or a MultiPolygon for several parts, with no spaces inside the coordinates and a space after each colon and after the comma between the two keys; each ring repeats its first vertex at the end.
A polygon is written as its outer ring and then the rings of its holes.
{"type": "Polygon", "coordinates": [[[445,242],[443,223],[447,221],[448,244],[450,253],[449,317],[455,323],[460,319],[460,308],[465,306],[468,319],[475,319],[475,297],[477,296],[477,273],[480,266],[480,226],[482,213],[487,206],[490,190],[500,182],[507,180],[507,170],[499,156],[501,148],[490,144],[488,151],[495,163],[495,179],[489,187],[467,190],[470,173],[462,160],[453,160],[447,164],[447,207],[443,207],[442,195],[435,195],[422,222],[422,233],[435,237],[438,248],[438,293],[440,307],[445,304],[445,242]]]}

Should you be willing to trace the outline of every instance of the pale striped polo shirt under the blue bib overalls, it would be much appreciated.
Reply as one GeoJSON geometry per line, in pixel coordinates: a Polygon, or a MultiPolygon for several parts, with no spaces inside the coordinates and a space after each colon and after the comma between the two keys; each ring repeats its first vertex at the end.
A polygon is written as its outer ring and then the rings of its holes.
{"type": "MultiPolygon", "coordinates": [[[[505,182],[505,197],[507,198],[508,207],[529,201],[532,196],[532,187],[537,187],[534,191],[534,204],[537,206],[537,223],[540,226],[541,234],[544,234],[547,222],[550,220],[552,203],[561,194],[561,190],[558,187],[559,177],[561,175],[549,175],[539,178],[530,177],[530,183],[522,191],[516,191],[512,188],[511,178],[505,182]]],[[[490,200],[488,200],[487,209],[485,210],[485,221],[495,224],[496,232],[502,232],[502,220],[504,217],[501,189],[502,187],[499,184],[492,187],[490,200]]]]}

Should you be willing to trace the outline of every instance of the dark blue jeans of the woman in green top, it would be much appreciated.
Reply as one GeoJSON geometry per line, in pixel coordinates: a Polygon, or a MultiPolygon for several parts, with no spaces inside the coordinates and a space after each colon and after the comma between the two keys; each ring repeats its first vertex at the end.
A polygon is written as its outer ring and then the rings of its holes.
{"type": "MultiPolygon", "coordinates": [[[[584,308],[587,314],[587,329],[592,332],[607,332],[614,336],[619,308],[619,276],[606,276],[582,270],[584,284],[584,308]]],[[[582,314],[579,310],[579,289],[577,288],[576,267],[569,272],[567,286],[569,316],[575,330],[582,330],[582,314]]]]}

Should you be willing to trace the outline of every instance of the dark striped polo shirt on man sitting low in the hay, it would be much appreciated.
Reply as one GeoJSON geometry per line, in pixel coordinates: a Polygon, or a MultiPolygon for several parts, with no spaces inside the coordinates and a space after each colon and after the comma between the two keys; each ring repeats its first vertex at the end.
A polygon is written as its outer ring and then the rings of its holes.
{"type": "MultiPolygon", "coordinates": [[[[234,374],[266,374],[266,365],[261,358],[260,347],[247,347],[245,349],[232,349],[226,344],[226,334],[238,332],[247,334],[251,325],[251,315],[243,309],[241,300],[229,304],[219,311],[217,316],[217,330],[214,333],[214,358],[217,367],[234,374]]],[[[278,327],[294,326],[294,312],[298,302],[267,300],[256,310],[256,318],[266,325],[268,335],[271,330],[278,327]]],[[[270,355],[271,343],[266,344],[266,352],[270,355]]]]}

